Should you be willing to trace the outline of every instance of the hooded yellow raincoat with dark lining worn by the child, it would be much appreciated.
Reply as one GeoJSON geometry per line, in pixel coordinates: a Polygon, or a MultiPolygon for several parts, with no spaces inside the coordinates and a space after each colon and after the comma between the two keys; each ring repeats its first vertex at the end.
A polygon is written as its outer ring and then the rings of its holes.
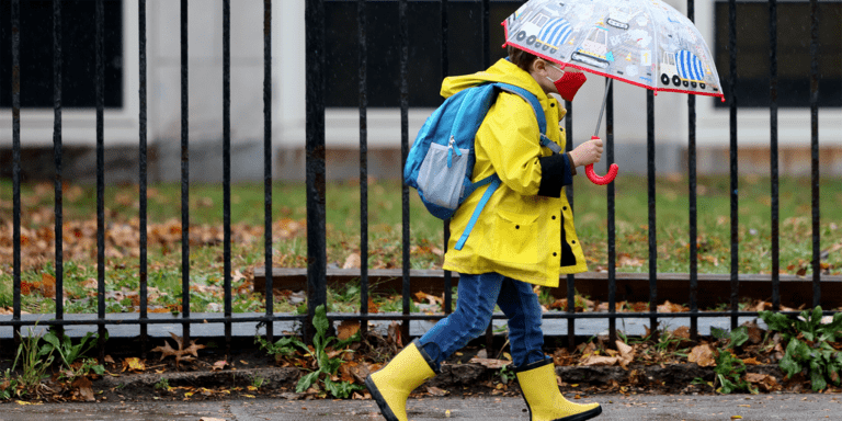
{"type": "MultiPolygon", "coordinates": [[[[505,59],[486,71],[446,78],[441,93],[448,98],[486,82],[505,82],[535,94],[547,118],[547,137],[564,150],[566,136],[556,122],[567,110],[548,96],[528,72],[505,59]]],[[[502,183],[462,250],[455,250],[456,241],[487,187],[477,189],[454,214],[445,270],[497,272],[551,287],[558,286],[560,274],[588,270],[573,214],[561,190],[562,183],[572,182],[569,159],[566,153],[553,156],[549,148],[542,147],[539,134],[532,106],[515,94],[501,92],[477,132],[473,181],[497,173],[502,183]]]]}

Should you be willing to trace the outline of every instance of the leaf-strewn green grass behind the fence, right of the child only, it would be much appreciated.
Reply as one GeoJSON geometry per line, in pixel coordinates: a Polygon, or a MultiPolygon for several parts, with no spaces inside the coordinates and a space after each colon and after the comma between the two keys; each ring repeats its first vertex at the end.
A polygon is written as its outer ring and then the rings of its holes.
{"type": "MultiPolygon", "coordinates": [[[[820,184],[821,249],[842,242],[842,190],[839,179],[820,184]]],[[[731,221],[728,178],[701,178],[697,196],[699,273],[729,273],[731,221]]],[[[607,264],[607,207],[604,187],[574,185],[577,230],[585,255],[596,266],[607,264]]],[[[781,266],[796,273],[812,259],[809,179],[786,178],[780,184],[781,266]]],[[[771,271],[771,194],[767,178],[747,177],[739,183],[739,272],[771,271]]],[[[690,272],[690,210],[686,179],[660,179],[656,186],[658,272],[690,272]]],[[[616,249],[632,263],[618,270],[649,271],[648,193],[645,178],[623,177],[616,182],[616,249]]],[[[622,259],[618,259],[622,260],[622,259]]],[[[842,252],[831,253],[831,273],[842,270],[842,252]]],[[[810,268],[807,268],[810,273],[810,268]]]]}

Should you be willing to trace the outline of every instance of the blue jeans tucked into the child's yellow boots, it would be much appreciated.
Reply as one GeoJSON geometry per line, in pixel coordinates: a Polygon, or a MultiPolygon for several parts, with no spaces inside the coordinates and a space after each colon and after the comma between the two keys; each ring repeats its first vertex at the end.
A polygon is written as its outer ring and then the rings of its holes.
{"type": "Polygon", "coordinates": [[[544,360],[541,305],[532,288],[532,284],[493,272],[459,275],[456,311],[424,333],[418,348],[439,372],[442,361],[486,331],[497,304],[509,318],[514,366],[544,360]]]}

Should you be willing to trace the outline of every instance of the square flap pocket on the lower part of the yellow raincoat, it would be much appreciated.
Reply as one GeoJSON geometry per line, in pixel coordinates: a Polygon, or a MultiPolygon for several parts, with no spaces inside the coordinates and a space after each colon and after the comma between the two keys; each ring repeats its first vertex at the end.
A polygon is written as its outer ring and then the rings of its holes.
{"type": "Polygon", "coordinates": [[[538,215],[498,209],[491,236],[493,260],[510,263],[538,262],[538,215]]]}

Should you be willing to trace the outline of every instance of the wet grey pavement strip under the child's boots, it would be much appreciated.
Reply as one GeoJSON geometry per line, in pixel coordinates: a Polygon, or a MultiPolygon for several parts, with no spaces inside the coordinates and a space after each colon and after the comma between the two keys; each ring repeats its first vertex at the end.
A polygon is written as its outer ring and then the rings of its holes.
{"type": "MultiPolygon", "coordinates": [[[[842,420],[842,395],[621,396],[599,401],[598,421],[842,420]],[[741,417],[741,418],[738,418],[741,417]]],[[[410,399],[410,420],[528,420],[520,398],[410,399]]],[[[373,400],[250,399],[216,402],[0,405],[0,421],[76,420],[383,420],[373,400]]]]}

